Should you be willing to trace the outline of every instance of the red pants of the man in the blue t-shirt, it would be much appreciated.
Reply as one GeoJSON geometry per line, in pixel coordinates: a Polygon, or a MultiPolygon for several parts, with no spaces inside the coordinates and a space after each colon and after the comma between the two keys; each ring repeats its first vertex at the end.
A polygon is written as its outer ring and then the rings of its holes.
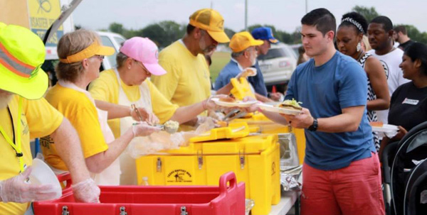
{"type": "Polygon", "coordinates": [[[339,170],[302,167],[302,215],[384,215],[378,155],[339,170]]]}

